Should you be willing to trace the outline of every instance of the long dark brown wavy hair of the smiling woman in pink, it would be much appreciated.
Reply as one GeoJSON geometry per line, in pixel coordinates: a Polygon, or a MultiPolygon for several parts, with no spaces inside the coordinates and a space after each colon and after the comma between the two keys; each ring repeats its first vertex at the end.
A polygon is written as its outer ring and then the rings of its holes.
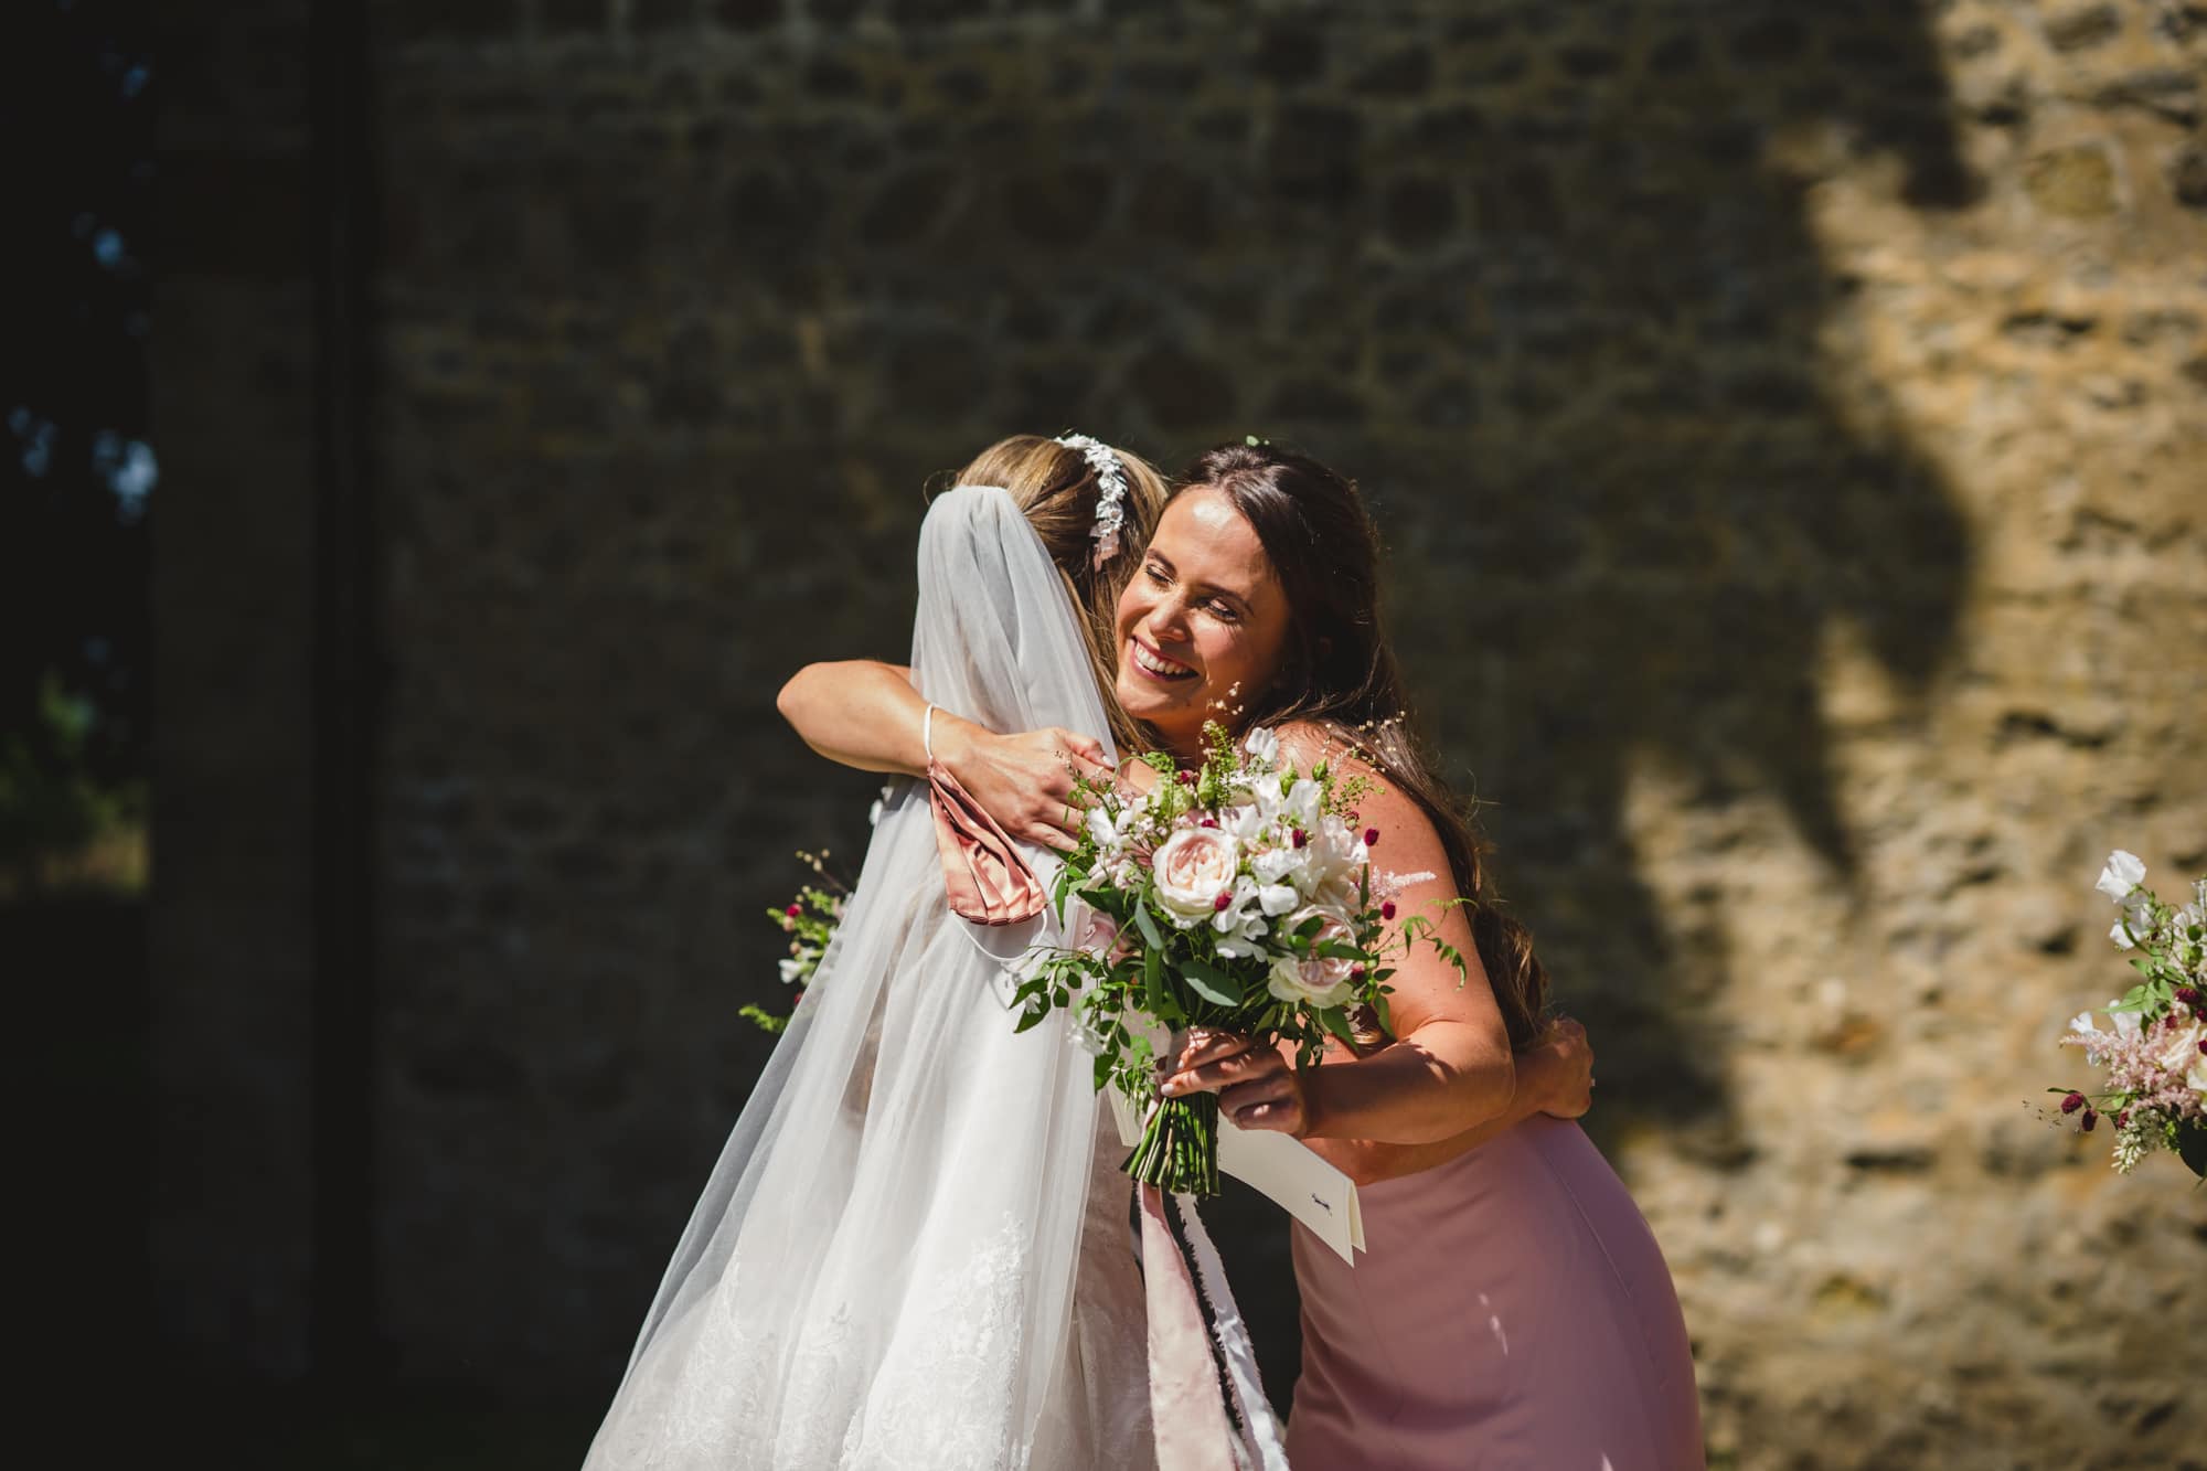
{"type": "Polygon", "coordinates": [[[1201,455],[1181,484],[1196,486],[1218,490],[1249,521],[1287,594],[1284,663],[1247,702],[1249,724],[1324,727],[1432,819],[1457,892],[1472,901],[1472,939],[1510,1043],[1523,1047],[1545,1025],[1547,967],[1492,888],[1492,848],[1470,808],[1410,729],[1408,691],[1379,621],[1379,532],[1364,497],[1315,459],[1269,444],[1201,455]]]}

